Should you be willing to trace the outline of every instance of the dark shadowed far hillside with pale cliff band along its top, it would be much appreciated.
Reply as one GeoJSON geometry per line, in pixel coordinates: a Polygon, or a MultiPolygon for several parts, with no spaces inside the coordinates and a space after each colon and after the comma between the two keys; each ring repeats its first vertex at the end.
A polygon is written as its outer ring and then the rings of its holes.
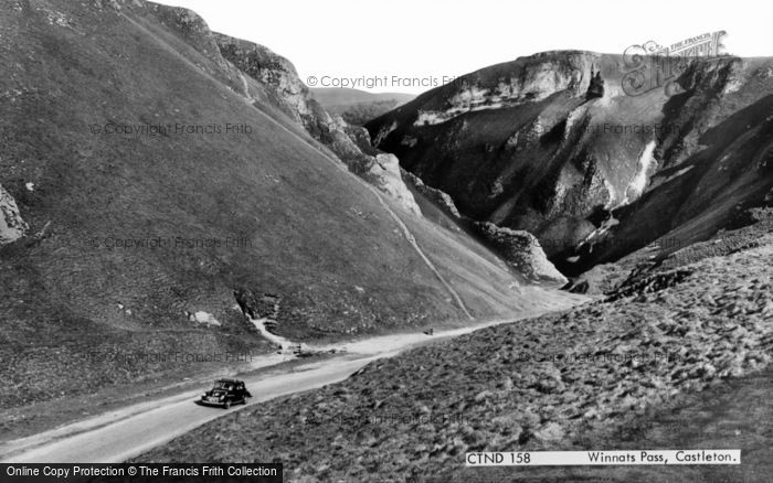
{"type": "Polygon", "coordinates": [[[521,57],[367,128],[464,215],[534,234],[569,273],[660,237],[706,239],[770,203],[773,61],[690,58],[673,83],[642,92],[624,89],[629,62],[579,51],[521,57]]]}

